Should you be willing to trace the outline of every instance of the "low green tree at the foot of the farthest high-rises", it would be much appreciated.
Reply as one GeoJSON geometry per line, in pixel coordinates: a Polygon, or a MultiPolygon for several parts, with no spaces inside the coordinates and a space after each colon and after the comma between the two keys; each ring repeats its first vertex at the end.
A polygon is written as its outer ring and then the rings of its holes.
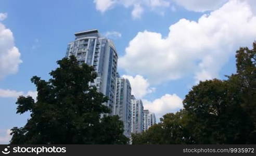
{"type": "Polygon", "coordinates": [[[167,145],[193,144],[189,129],[187,129],[187,112],[185,110],[163,115],[160,123],[151,126],[146,132],[132,134],[133,144],[167,145]]]}

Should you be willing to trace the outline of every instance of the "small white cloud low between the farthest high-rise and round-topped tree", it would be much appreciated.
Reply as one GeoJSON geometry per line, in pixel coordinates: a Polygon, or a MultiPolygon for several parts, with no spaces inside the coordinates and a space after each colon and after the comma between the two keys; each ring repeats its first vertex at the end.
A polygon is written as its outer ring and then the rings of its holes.
{"type": "Polygon", "coordinates": [[[143,100],[144,109],[156,114],[159,119],[166,113],[174,113],[183,108],[182,99],[176,94],[165,94],[154,101],[143,100]]]}

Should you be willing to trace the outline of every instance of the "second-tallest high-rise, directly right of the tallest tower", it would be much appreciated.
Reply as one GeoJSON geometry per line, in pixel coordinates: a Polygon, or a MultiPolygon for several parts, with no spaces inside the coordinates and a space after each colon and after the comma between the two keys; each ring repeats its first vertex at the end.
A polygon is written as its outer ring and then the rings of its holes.
{"type": "Polygon", "coordinates": [[[114,115],[119,115],[124,124],[124,135],[131,137],[131,85],[128,79],[117,78],[114,115]]]}

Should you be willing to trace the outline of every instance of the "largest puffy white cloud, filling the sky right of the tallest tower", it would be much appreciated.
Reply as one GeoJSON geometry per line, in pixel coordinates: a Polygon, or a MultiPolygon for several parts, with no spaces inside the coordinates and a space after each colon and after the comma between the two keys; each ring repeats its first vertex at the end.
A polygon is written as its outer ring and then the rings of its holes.
{"type": "Polygon", "coordinates": [[[233,0],[198,21],[181,19],[170,26],[167,37],[138,32],[119,59],[119,67],[146,76],[150,83],[188,74],[194,74],[196,82],[212,79],[240,46],[252,44],[255,28],[250,6],[233,0]]]}

